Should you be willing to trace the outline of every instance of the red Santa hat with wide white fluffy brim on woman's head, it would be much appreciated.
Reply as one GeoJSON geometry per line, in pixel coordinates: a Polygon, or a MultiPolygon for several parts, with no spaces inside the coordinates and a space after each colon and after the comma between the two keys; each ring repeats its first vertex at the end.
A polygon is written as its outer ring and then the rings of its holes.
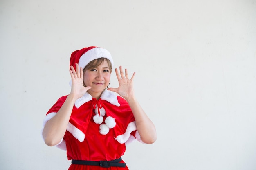
{"type": "Polygon", "coordinates": [[[110,52],[108,52],[108,50],[100,47],[91,46],[72,52],[70,57],[70,66],[72,65],[76,70],[76,63],[78,63],[79,67],[82,67],[84,69],[85,66],[92,60],[99,58],[109,59],[112,66],[114,64],[112,56],[110,52]]]}

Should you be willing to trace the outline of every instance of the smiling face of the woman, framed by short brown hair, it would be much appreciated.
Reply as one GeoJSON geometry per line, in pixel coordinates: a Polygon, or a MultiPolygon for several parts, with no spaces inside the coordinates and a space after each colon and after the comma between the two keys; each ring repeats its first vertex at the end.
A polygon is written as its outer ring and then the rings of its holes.
{"type": "Polygon", "coordinates": [[[101,96],[101,93],[110,81],[110,68],[106,60],[101,65],[85,70],[83,73],[84,85],[92,87],[87,92],[94,98],[101,96]]]}

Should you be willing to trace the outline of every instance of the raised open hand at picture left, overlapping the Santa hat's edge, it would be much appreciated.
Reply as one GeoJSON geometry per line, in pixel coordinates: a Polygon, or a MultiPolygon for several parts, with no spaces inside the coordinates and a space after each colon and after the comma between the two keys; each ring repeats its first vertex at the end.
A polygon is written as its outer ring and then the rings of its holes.
{"type": "Polygon", "coordinates": [[[70,68],[71,70],[69,71],[72,80],[70,95],[77,100],[78,98],[81,98],[91,87],[83,86],[83,69],[81,67],[79,68],[78,64],[76,64],[76,70],[73,66],[70,66],[70,68]]]}

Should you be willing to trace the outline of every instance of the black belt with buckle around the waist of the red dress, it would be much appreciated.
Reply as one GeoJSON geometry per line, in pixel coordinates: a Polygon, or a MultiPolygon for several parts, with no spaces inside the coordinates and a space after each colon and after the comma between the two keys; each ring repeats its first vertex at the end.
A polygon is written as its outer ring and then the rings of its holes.
{"type": "Polygon", "coordinates": [[[115,159],[113,161],[82,161],[82,160],[72,160],[72,164],[78,164],[78,165],[96,165],[108,168],[110,166],[117,166],[117,167],[125,167],[125,163],[119,163],[122,160],[120,157],[119,159],[115,159]]]}

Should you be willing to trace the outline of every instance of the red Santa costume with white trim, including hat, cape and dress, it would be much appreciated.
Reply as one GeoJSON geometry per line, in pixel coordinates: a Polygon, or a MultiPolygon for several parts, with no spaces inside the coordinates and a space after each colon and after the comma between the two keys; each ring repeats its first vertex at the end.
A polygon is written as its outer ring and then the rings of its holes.
{"type": "MultiPolygon", "coordinates": [[[[78,63],[85,68],[97,58],[107,58],[113,65],[106,49],[88,47],[71,54],[70,66],[78,63]]],[[[66,98],[62,96],[49,109],[43,126],[56,115],[66,98]]],[[[56,146],[66,150],[67,159],[72,160],[69,170],[128,170],[119,158],[133,139],[142,142],[128,102],[115,92],[104,90],[99,100],[87,92],[76,100],[66,133],[56,146]]]]}

